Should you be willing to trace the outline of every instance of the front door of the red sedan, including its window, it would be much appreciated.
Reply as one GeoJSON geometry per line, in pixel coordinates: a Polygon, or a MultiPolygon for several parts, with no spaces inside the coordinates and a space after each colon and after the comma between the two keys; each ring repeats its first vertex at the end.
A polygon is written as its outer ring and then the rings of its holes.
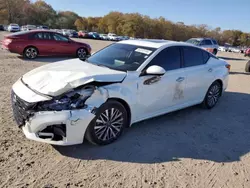
{"type": "Polygon", "coordinates": [[[72,48],[72,43],[69,38],[59,34],[52,34],[54,39],[54,49],[53,52],[58,55],[72,55],[76,53],[76,50],[72,48]]]}

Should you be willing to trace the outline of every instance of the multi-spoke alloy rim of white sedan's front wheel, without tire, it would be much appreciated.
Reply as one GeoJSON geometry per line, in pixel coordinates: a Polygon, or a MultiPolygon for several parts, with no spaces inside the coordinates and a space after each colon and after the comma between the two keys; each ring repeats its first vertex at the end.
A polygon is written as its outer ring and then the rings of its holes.
{"type": "Polygon", "coordinates": [[[105,110],[96,120],[95,135],[99,140],[115,139],[121,132],[124,124],[123,114],[116,108],[105,110]]]}

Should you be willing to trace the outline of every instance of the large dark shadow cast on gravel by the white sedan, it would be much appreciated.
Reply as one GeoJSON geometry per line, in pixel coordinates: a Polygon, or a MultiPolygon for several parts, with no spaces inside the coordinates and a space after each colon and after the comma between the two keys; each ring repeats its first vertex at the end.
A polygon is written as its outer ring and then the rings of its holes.
{"type": "Polygon", "coordinates": [[[179,161],[239,161],[250,151],[250,95],[226,92],[212,110],[190,107],[133,125],[116,142],[55,149],[81,160],[132,163],[179,161]]]}

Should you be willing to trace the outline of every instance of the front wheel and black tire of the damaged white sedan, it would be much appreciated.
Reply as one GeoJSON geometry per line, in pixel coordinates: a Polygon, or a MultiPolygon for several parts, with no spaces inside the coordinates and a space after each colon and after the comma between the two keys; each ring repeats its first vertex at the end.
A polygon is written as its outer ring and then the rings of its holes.
{"type": "Polygon", "coordinates": [[[128,126],[127,113],[121,103],[115,100],[107,101],[98,108],[96,117],[89,124],[85,134],[86,139],[96,145],[107,145],[114,142],[121,136],[123,129],[128,126]],[[118,116],[118,114],[121,115],[118,116]]]}

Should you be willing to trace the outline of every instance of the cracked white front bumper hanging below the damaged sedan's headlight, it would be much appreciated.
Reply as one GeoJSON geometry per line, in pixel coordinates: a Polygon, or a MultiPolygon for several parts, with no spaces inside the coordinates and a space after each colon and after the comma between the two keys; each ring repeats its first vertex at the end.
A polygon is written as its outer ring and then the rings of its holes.
{"type": "Polygon", "coordinates": [[[81,144],[94,117],[91,109],[37,112],[22,129],[31,140],[63,146],[81,144]]]}

